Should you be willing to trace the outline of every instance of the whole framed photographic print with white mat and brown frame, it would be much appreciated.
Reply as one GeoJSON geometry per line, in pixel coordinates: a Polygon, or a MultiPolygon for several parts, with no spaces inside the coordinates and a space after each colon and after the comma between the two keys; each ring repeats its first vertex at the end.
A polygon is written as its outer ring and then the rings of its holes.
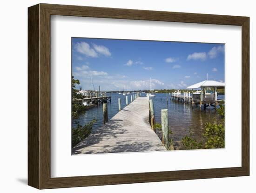
{"type": "Polygon", "coordinates": [[[28,8],[28,185],[246,175],[248,17],[28,8]]]}

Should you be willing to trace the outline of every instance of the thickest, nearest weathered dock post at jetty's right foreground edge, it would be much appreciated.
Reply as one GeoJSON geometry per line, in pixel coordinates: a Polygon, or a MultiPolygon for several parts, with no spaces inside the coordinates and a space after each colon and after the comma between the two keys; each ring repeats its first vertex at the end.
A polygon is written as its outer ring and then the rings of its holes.
{"type": "Polygon", "coordinates": [[[169,124],[168,124],[168,109],[161,110],[161,123],[162,123],[162,143],[167,149],[170,148],[169,142],[169,124]]]}

